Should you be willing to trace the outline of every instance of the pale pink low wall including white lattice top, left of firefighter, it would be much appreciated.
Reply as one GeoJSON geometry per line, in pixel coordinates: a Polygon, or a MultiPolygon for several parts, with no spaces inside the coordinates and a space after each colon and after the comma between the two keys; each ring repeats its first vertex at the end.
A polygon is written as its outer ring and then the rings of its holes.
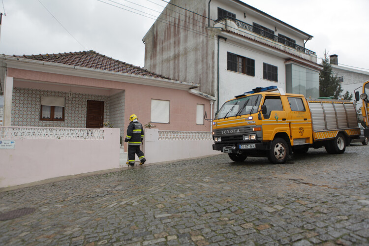
{"type": "Polygon", "coordinates": [[[119,128],[0,127],[0,141],[14,142],[0,148],[0,187],[119,168],[119,136],[119,128]]]}

